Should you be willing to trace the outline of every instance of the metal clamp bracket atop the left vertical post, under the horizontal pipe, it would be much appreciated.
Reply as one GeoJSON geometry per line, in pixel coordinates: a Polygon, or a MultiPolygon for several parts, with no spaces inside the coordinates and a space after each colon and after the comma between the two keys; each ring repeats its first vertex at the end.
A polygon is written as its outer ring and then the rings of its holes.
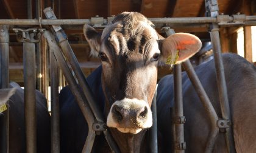
{"type": "Polygon", "coordinates": [[[41,32],[45,29],[12,29],[16,33],[16,38],[19,42],[40,42],[41,32]]]}

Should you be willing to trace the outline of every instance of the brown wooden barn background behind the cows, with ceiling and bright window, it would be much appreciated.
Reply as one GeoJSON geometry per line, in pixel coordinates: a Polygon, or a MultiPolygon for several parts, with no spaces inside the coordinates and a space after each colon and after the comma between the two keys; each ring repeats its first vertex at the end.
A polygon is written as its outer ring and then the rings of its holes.
{"type": "MultiPolygon", "coordinates": [[[[46,19],[43,9],[51,7],[54,10],[57,19],[104,19],[113,17],[121,12],[140,12],[147,18],[179,18],[179,17],[203,17],[205,16],[204,0],[2,0],[0,1],[0,19],[46,19]]],[[[256,15],[255,0],[221,0],[218,1],[220,15],[256,15]]],[[[23,77],[23,44],[16,39],[13,28],[23,26],[12,25],[9,28],[10,44],[9,44],[9,72],[10,81],[24,86],[23,77]]],[[[26,27],[28,28],[28,27],[26,27]]],[[[31,27],[29,27],[31,28],[31,27]]],[[[45,27],[47,28],[47,27],[45,27]]],[[[188,32],[198,36],[202,42],[210,41],[208,32],[209,26],[202,25],[195,27],[193,24],[180,26],[180,24],[172,24],[171,28],[175,32],[188,32]]],[[[69,43],[76,54],[80,67],[84,74],[88,76],[96,67],[100,65],[98,58],[90,56],[90,47],[82,33],[82,25],[63,26],[69,43]]],[[[97,29],[102,30],[101,27],[97,29]]],[[[162,33],[161,26],[157,27],[157,31],[162,33]]],[[[223,53],[239,53],[250,62],[256,62],[256,48],[252,46],[252,42],[256,41],[256,30],[252,26],[243,26],[234,24],[232,26],[221,26],[219,29],[221,38],[221,49],[223,53]],[[238,43],[240,45],[238,45],[238,43]]],[[[162,33],[164,35],[164,33],[162,33]]],[[[49,51],[46,41],[42,39],[39,46],[40,52],[40,72],[37,77],[42,82],[40,89],[45,95],[48,93],[49,86],[49,51]]],[[[210,49],[209,49],[210,50],[210,49]]],[[[38,60],[38,59],[37,59],[38,60]]],[[[169,69],[159,69],[158,78],[163,77],[167,73],[171,73],[169,69]]],[[[65,86],[63,75],[60,80],[65,86]]]]}

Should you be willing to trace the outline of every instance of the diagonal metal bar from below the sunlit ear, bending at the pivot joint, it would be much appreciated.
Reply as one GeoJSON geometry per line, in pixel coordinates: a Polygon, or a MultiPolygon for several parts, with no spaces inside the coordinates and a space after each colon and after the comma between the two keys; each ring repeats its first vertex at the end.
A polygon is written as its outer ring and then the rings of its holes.
{"type": "Polygon", "coordinates": [[[194,89],[196,90],[196,93],[198,97],[200,98],[202,105],[204,106],[208,117],[210,118],[210,123],[211,123],[211,132],[207,140],[207,146],[205,147],[204,152],[212,152],[213,147],[215,145],[215,141],[217,138],[217,135],[219,133],[219,128],[217,126],[217,121],[218,121],[218,116],[215,112],[215,109],[212,106],[212,103],[210,99],[208,98],[204,87],[202,87],[202,84],[199,80],[199,78],[196,75],[196,72],[194,72],[194,68],[190,63],[190,60],[187,60],[182,63],[182,66],[185,68],[188,77],[190,78],[191,83],[194,86],[194,89]]]}

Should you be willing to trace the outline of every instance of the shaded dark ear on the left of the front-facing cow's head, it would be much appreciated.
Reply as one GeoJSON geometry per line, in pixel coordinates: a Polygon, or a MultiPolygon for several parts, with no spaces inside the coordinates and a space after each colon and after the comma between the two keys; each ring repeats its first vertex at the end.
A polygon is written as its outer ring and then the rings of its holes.
{"type": "Polygon", "coordinates": [[[91,55],[98,57],[99,50],[101,49],[101,33],[97,32],[93,27],[88,24],[84,25],[84,35],[91,47],[91,55]]]}

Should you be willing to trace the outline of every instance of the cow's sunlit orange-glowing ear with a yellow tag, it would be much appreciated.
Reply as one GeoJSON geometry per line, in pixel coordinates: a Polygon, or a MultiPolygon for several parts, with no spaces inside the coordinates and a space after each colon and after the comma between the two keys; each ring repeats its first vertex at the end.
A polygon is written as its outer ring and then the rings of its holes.
{"type": "Polygon", "coordinates": [[[199,51],[202,42],[189,33],[175,33],[160,41],[161,60],[166,64],[178,64],[199,51]]]}

